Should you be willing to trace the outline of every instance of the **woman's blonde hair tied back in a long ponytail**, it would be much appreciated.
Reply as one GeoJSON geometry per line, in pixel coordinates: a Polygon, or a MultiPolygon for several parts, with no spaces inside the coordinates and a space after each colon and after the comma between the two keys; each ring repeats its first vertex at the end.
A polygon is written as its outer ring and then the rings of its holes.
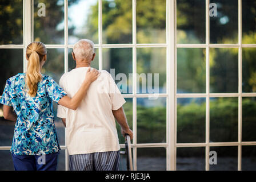
{"type": "Polygon", "coordinates": [[[46,55],[45,45],[41,42],[33,42],[27,46],[26,55],[29,63],[27,64],[27,72],[25,84],[27,93],[31,97],[37,95],[37,84],[41,81],[40,62],[46,55]]]}

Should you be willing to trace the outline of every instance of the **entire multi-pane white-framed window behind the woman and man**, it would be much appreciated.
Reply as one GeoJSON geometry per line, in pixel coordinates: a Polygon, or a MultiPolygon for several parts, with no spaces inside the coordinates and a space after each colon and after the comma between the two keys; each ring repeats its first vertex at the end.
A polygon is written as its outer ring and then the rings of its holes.
{"type": "MultiPolygon", "coordinates": [[[[25,49],[33,40],[46,44],[42,72],[58,82],[75,67],[73,44],[91,39],[97,53],[91,67],[114,69],[117,84],[119,73],[127,77],[120,89],[134,131],[134,169],[246,170],[255,166],[255,152],[251,152],[256,146],[254,1],[4,2],[0,6],[1,93],[7,78],[26,71],[25,49]],[[46,16],[38,15],[38,3],[46,5],[46,16]],[[217,5],[217,16],[210,16],[210,3],[217,5]],[[143,74],[152,76],[153,86],[143,80],[143,74]],[[157,99],[149,99],[155,97],[152,90],[157,99]],[[217,152],[219,165],[209,163],[210,151],[217,152]]],[[[62,148],[58,169],[67,170],[65,128],[56,113],[54,105],[62,148]]],[[[2,106],[0,120],[0,161],[5,164],[0,169],[12,169],[7,150],[14,123],[3,119],[2,106]]],[[[118,125],[117,129],[124,148],[118,125]]],[[[123,157],[121,169],[125,170],[123,157]]]]}

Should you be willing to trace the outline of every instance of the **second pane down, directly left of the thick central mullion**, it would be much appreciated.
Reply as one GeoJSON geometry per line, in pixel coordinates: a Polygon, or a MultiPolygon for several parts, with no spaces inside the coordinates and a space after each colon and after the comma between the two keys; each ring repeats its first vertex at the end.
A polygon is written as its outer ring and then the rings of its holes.
{"type": "Polygon", "coordinates": [[[137,48],[137,93],[166,93],[166,48],[137,48]]]}

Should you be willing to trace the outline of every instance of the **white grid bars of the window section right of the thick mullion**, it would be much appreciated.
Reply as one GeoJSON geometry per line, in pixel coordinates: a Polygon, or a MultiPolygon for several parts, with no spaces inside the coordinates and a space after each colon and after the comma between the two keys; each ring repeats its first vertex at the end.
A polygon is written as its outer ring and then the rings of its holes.
{"type": "MultiPolygon", "coordinates": [[[[175,63],[177,63],[177,48],[205,48],[206,49],[206,93],[183,94],[177,93],[177,82],[175,79],[175,106],[177,105],[177,98],[206,98],[206,129],[204,143],[177,143],[175,139],[175,149],[177,147],[205,147],[205,169],[209,171],[209,152],[210,147],[217,146],[237,146],[238,147],[238,171],[241,171],[242,166],[242,146],[254,146],[256,142],[242,142],[242,98],[256,97],[256,93],[242,92],[242,48],[255,48],[256,44],[242,44],[242,0],[238,1],[238,43],[237,44],[210,44],[210,16],[209,4],[210,0],[205,0],[206,4],[206,43],[205,44],[178,44],[175,42],[175,63]],[[238,93],[210,93],[210,48],[238,48],[238,93]],[[210,142],[210,98],[212,97],[236,97],[238,98],[238,142],[210,142]]],[[[176,2],[176,1],[175,1],[176,2]]],[[[175,9],[176,9],[175,5],[175,9]]],[[[175,22],[177,20],[175,14],[175,22]]],[[[176,26],[176,24],[175,24],[176,26]]],[[[177,28],[175,27],[175,37],[177,37],[177,28]]],[[[175,64],[175,71],[177,73],[177,64],[175,64]]],[[[177,78],[177,75],[175,75],[177,78]]],[[[175,107],[175,115],[177,109],[175,107]]],[[[175,118],[175,137],[177,136],[177,118],[175,118]]],[[[176,156],[174,157],[176,159],[176,156]]],[[[175,165],[175,164],[174,164],[175,165]]],[[[174,168],[176,169],[176,168],[174,168]]]]}

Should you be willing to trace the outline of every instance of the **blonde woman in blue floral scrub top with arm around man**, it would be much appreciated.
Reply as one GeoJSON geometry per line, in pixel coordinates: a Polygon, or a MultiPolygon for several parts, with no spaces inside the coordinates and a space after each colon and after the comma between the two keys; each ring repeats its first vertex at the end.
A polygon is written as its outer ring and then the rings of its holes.
{"type": "Polygon", "coordinates": [[[53,102],[76,110],[91,82],[99,72],[88,69],[78,92],[73,98],[41,69],[46,61],[46,47],[41,42],[27,46],[26,73],[18,73],[6,81],[0,103],[3,116],[16,121],[11,154],[15,170],[56,170],[59,143],[54,125],[53,102]],[[13,111],[14,110],[14,111],[13,111]],[[38,162],[45,157],[45,161],[38,162]]]}

